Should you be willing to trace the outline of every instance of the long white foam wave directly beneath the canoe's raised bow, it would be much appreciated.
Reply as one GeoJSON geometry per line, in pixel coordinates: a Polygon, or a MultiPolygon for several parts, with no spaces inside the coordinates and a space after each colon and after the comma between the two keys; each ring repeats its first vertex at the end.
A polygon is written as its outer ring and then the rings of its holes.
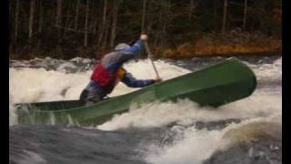
{"type": "MultiPolygon", "coordinates": [[[[251,97],[227,104],[220,108],[201,108],[190,100],[177,103],[151,103],[141,108],[116,115],[112,120],[97,128],[115,130],[118,128],[155,128],[172,122],[191,124],[196,121],[217,121],[229,118],[266,118],[282,113],[282,97],[255,93],[251,97]]],[[[279,118],[279,117],[276,117],[279,118]]]]}

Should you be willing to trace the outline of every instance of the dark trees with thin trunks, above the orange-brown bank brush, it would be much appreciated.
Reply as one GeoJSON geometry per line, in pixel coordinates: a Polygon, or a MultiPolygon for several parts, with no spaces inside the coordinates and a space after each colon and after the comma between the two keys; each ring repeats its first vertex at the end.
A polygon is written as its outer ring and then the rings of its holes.
{"type": "Polygon", "coordinates": [[[281,0],[11,0],[10,48],[14,54],[99,55],[146,32],[160,52],[236,27],[280,38],[281,8],[281,0]]]}

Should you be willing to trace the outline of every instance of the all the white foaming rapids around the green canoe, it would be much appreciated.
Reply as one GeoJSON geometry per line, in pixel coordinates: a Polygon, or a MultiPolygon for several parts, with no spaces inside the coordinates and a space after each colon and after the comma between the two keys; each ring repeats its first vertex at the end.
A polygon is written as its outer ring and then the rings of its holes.
{"type": "MultiPolygon", "coordinates": [[[[133,105],[127,113],[115,115],[103,125],[94,128],[111,131],[128,128],[159,128],[174,124],[175,126],[169,128],[168,132],[164,134],[165,138],[166,135],[176,134],[171,144],[141,143],[135,148],[142,154],[141,159],[156,164],[201,163],[209,159],[217,150],[227,149],[237,139],[255,138],[254,131],[257,131],[255,128],[257,125],[261,126],[260,129],[263,130],[269,129],[269,124],[275,124],[281,128],[282,59],[258,65],[244,62],[253,69],[258,81],[258,87],[250,97],[218,109],[201,108],[188,99],[179,100],[177,103],[154,102],[142,107],[133,105]],[[264,87],[265,83],[267,83],[267,87],[264,87]],[[272,85],[273,83],[275,85],[272,85]],[[222,129],[199,129],[194,125],[199,121],[211,122],[226,119],[239,119],[241,121],[232,122],[222,129]],[[252,126],[254,124],[256,126],[252,126]],[[238,131],[243,132],[239,135],[234,135],[237,132],[232,132],[229,135],[229,131],[236,131],[236,129],[241,129],[238,131]]],[[[165,80],[196,70],[177,67],[163,60],[158,60],[155,64],[160,77],[165,80]]],[[[136,78],[156,77],[148,60],[127,63],[125,69],[136,78]]],[[[91,73],[90,70],[65,73],[62,69],[48,71],[44,68],[9,68],[10,125],[17,125],[15,103],[77,99],[82,89],[87,85],[91,73]]],[[[119,83],[109,97],[122,95],[135,89],[138,88],[126,87],[119,83]]]]}

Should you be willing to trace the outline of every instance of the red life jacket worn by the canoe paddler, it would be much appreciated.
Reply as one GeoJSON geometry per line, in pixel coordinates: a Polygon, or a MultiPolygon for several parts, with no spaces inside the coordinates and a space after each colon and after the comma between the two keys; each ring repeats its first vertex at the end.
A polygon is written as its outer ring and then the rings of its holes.
{"type": "Polygon", "coordinates": [[[107,93],[110,93],[118,82],[125,75],[125,70],[120,67],[115,72],[109,72],[101,63],[97,64],[91,80],[94,80],[100,87],[105,88],[107,93]]]}

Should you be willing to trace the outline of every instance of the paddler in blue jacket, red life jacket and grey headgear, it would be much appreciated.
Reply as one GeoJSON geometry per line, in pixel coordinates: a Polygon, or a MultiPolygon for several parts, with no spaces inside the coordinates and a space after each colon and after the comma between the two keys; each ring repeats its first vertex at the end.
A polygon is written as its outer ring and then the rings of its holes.
{"type": "Polygon", "coordinates": [[[115,50],[103,56],[96,64],[89,84],[82,91],[80,100],[92,104],[103,100],[110,94],[119,81],[127,87],[146,87],[161,81],[160,78],[138,80],[123,68],[123,64],[134,58],[144,46],[147,36],[141,35],[131,46],[119,44],[115,50]]]}

